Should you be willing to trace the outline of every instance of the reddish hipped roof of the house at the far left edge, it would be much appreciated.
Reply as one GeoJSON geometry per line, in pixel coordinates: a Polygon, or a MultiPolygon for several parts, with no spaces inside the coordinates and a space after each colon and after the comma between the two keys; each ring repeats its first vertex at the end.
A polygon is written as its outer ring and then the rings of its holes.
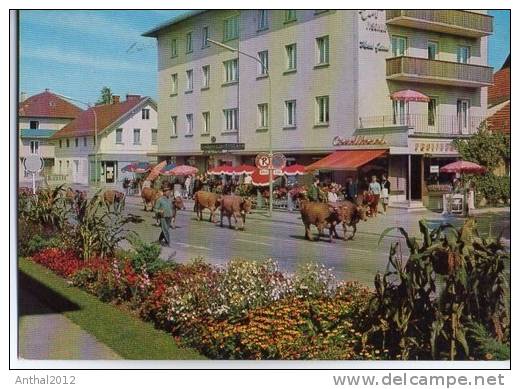
{"type": "Polygon", "coordinates": [[[46,89],[18,104],[20,117],[74,119],[83,110],[46,89]]]}

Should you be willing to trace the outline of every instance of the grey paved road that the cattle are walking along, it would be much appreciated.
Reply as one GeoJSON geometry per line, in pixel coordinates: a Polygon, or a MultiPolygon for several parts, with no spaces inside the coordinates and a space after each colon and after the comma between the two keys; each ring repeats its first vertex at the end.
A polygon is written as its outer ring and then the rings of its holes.
{"type": "MultiPolygon", "coordinates": [[[[273,258],[284,271],[292,272],[299,264],[309,261],[323,263],[331,268],[339,279],[357,280],[373,285],[375,273],[384,271],[388,250],[392,241],[399,239],[396,232],[385,238],[379,245],[381,232],[389,226],[402,226],[411,234],[419,236],[418,220],[425,218],[432,226],[443,221],[433,212],[408,213],[392,209],[388,215],[367,222],[361,222],[355,240],[325,240],[309,242],[303,238],[304,228],[299,213],[275,212],[273,220],[262,213],[248,215],[245,231],[224,228],[207,221],[208,211],[204,211],[204,221],[198,221],[192,211],[191,202],[186,203],[186,211],[177,216],[177,228],[171,231],[171,248],[163,248],[162,256],[178,262],[188,262],[195,257],[203,257],[214,264],[222,264],[231,258],[261,260],[273,258]]],[[[154,226],[151,212],[143,212],[139,199],[129,198],[126,212],[140,215],[144,221],[134,225],[141,239],[156,241],[160,229],[154,226]]],[[[509,239],[509,213],[479,215],[479,228],[483,232],[506,230],[509,239]]],[[[460,219],[452,219],[454,224],[462,224],[460,219]]],[[[339,229],[338,231],[340,231],[339,229]]]]}

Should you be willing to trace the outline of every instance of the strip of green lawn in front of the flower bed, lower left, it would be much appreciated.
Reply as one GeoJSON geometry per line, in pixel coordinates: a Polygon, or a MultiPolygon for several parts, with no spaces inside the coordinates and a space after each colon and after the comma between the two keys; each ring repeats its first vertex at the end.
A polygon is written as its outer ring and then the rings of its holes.
{"type": "Polygon", "coordinates": [[[45,303],[58,309],[124,359],[205,359],[193,349],[180,348],[171,335],[157,330],[151,323],[70,286],[66,280],[41,265],[21,258],[18,266],[22,273],[42,285],[42,291],[38,291],[38,296],[45,303]],[[57,300],[50,298],[53,295],[59,295],[62,300],[68,301],[77,309],[63,310],[53,306],[57,300]]]}

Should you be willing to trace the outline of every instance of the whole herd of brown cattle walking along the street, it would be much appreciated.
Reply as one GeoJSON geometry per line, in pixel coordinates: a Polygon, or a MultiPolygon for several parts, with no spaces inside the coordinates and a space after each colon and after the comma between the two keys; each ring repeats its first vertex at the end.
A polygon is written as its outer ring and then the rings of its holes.
{"type": "MultiPolygon", "coordinates": [[[[155,202],[163,195],[160,189],[143,188],[141,198],[143,200],[144,210],[153,211],[155,202]]],[[[78,191],[74,192],[70,188],[66,192],[66,196],[78,196],[78,191]]],[[[234,220],[235,229],[244,229],[246,215],[251,213],[252,202],[249,198],[237,195],[219,195],[213,192],[198,191],[193,196],[193,211],[197,214],[198,220],[202,220],[202,212],[207,209],[209,211],[209,221],[215,222],[215,214],[220,210],[220,226],[223,226],[224,217],[227,217],[229,227],[232,228],[231,219],[234,220]],[[239,223],[240,221],[240,223],[239,223]],[[239,226],[240,224],[240,226],[239,226]]],[[[117,190],[106,190],[103,193],[102,201],[108,209],[111,207],[114,211],[121,211],[125,205],[125,194],[117,190]]],[[[324,235],[325,229],[328,230],[329,241],[333,238],[338,239],[339,235],[336,226],[343,227],[343,239],[353,239],[357,224],[363,220],[367,220],[369,207],[363,204],[355,204],[350,201],[340,201],[337,203],[321,203],[312,202],[305,198],[298,200],[300,206],[300,214],[302,222],[305,226],[305,238],[314,240],[311,233],[311,226],[314,225],[318,229],[319,240],[324,235]],[[347,228],[352,228],[352,235],[347,238],[347,228]]],[[[172,226],[175,226],[175,218],[178,210],[184,210],[184,202],[181,197],[172,198],[172,226]]],[[[158,221],[157,221],[158,224],[158,221]]]]}

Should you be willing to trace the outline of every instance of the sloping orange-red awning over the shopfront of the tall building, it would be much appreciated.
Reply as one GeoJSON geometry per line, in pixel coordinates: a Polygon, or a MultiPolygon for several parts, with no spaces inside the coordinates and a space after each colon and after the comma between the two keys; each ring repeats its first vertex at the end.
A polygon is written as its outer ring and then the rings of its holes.
{"type": "Polygon", "coordinates": [[[335,151],[307,166],[306,170],[356,170],[373,159],[381,157],[387,151],[388,149],[335,151]]]}

